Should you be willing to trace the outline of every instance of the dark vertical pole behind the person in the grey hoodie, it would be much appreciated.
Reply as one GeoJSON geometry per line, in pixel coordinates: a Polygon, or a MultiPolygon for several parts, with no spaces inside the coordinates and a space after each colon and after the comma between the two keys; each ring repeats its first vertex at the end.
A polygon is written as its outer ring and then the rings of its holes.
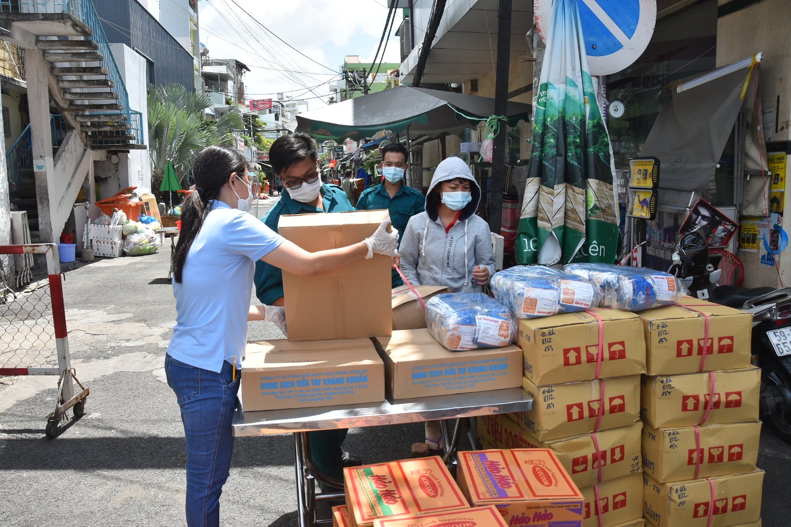
{"type": "MultiPolygon", "coordinates": [[[[498,2],[497,70],[494,73],[494,115],[508,111],[508,77],[511,65],[511,0],[498,2]]],[[[500,234],[502,228],[502,190],[505,184],[505,148],[508,138],[507,122],[501,121],[494,136],[492,151],[492,181],[489,194],[489,228],[500,234]]]]}

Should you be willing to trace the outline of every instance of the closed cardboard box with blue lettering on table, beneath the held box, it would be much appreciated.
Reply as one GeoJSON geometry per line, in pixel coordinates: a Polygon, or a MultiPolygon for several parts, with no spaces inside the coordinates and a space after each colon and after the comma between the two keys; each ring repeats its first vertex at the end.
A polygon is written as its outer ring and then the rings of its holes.
{"type": "Polygon", "coordinates": [[[384,401],[384,363],[370,339],[248,343],[245,411],[384,401]]]}

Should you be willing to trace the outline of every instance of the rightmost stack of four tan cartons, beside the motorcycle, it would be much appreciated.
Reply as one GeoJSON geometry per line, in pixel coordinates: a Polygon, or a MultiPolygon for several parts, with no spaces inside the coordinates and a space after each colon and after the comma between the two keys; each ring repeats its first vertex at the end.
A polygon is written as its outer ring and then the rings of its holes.
{"type": "Polygon", "coordinates": [[[760,371],[751,314],[685,297],[644,311],[645,519],[651,525],[759,525],[760,371]]]}

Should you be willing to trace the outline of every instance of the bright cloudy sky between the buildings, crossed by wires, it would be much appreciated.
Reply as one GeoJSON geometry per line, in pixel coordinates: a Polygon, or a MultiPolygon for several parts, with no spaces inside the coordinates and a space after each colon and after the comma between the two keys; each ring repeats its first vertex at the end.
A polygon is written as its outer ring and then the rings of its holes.
{"type": "MultiPolygon", "coordinates": [[[[211,58],[236,58],[250,67],[244,75],[249,98],[283,92],[312,97],[314,109],[330,96],[327,82],[340,79],[345,55],[373,60],[387,16],[387,0],[200,0],[200,41],[211,58]]],[[[384,62],[400,62],[400,23],[396,9],[384,62]]]]}

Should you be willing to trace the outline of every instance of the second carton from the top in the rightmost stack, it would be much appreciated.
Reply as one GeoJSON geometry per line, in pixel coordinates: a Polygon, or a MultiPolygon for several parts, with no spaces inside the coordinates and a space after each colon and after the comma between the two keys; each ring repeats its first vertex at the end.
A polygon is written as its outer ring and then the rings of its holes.
{"type": "Polygon", "coordinates": [[[761,371],[713,371],[687,375],[644,376],[641,414],[653,428],[748,423],[758,420],[761,371]],[[714,377],[713,390],[712,379],[714,377]]]}

